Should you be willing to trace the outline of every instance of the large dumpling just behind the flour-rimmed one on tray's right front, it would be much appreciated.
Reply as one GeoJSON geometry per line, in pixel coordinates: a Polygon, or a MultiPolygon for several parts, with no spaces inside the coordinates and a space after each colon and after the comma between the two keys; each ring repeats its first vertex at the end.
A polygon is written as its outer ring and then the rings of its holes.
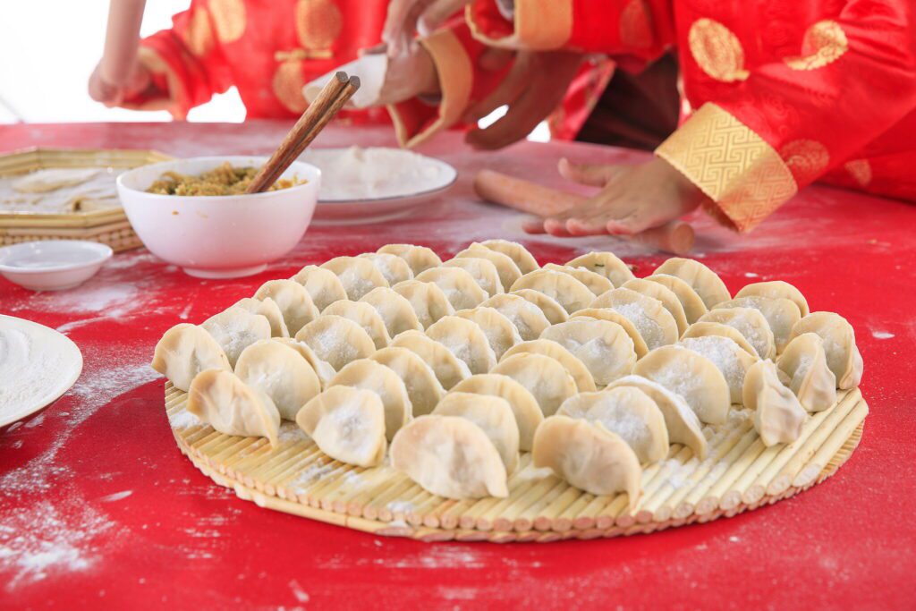
{"type": "Polygon", "coordinates": [[[723,424],[728,417],[728,383],[703,355],[681,346],[662,346],[639,359],[633,373],[681,395],[701,422],[723,424]]]}

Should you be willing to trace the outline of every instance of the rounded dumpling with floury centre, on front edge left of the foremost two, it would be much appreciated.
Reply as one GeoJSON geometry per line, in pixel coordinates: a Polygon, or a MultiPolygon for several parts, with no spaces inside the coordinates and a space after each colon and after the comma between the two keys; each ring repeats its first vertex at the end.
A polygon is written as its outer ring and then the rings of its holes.
{"type": "Polygon", "coordinates": [[[371,390],[328,388],[302,406],[296,423],[336,461],[374,467],[385,460],[385,409],[371,390]]]}

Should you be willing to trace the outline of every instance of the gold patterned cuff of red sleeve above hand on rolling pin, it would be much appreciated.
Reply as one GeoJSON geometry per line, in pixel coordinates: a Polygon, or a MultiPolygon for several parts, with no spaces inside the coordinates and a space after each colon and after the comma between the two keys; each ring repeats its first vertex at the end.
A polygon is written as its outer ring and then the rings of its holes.
{"type": "Polygon", "coordinates": [[[798,191],[773,147],[712,103],[703,104],[655,154],[709,196],[738,231],[753,229],[798,191]]]}

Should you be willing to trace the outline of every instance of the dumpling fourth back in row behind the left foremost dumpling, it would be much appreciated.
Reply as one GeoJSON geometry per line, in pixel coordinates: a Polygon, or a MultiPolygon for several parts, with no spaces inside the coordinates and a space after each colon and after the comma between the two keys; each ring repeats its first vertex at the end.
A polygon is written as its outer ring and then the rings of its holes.
{"type": "Polygon", "coordinates": [[[490,370],[502,374],[525,387],[535,398],[544,416],[552,416],[562,402],[579,390],[573,376],[550,356],[525,353],[504,358],[490,370]]]}

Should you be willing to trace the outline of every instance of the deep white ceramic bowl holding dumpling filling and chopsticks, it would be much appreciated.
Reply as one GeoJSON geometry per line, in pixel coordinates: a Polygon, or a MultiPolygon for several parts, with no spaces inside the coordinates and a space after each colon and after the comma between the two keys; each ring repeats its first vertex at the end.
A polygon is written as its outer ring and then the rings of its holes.
{"type": "Polygon", "coordinates": [[[228,161],[259,168],[266,157],[176,159],[132,169],[117,178],[118,195],[136,235],[152,253],[198,278],[256,274],[299,243],[318,201],[321,170],[295,161],[282,178],[303,184],[251,195],[147,193],[163,172],[201,174],[228,161]]]}

